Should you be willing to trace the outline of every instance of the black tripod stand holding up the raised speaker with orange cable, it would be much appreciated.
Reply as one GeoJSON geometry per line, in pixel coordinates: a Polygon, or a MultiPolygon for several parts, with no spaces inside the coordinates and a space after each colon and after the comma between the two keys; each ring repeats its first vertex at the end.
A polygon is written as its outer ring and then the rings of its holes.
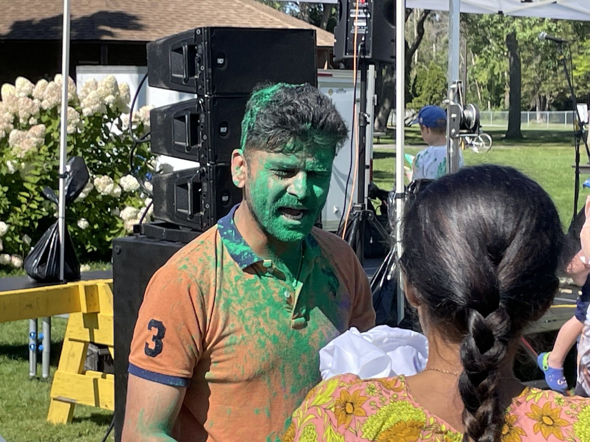
{"type": "MultiPolygon", "coordinates": [[[[372,231],[378,233],[379,236],[386,243],[390,243],[391,239],[387,231],[383,228],[381,223],[375,218],[375,213],[369,210],[367,207],[368,198],[365,194],[365,172],[366,172],[366,127],[367,127],[367,70],[368,64],[362,58],[359,60],[360,67],[360,105],[359,105],[359,124],[358,137],[359,137],[359,149],[358,149],[358,161],[359,168],[357,171],[356,180],[358,182],[356,203],[352,205],[350,209],[349,222],[346,223],[346,232],[344,239],[349,245],[355,250],[356,256],[359,258],[360,263],[363,263],[365,258],[365,232],[369,227],[372,227],[372,231]]],[[[355,97],[356,100],[356,97],[355,97]]],[[[351,146],[351,149],[353,146],[351,146]]],[[[355,189],[352,189],[354,193],[355,189]]],[[[351,195],[352,198],[352,195],[351,195]]],[[[369,203],[370,204],[370,203],[369,203]]],[[[338,235],[342,236],[345,226],[341,226],[338,235]]]]}

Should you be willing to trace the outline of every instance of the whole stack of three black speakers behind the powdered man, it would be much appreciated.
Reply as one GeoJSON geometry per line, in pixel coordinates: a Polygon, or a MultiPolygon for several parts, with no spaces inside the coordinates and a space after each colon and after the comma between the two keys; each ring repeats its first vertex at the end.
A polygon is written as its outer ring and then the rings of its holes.
{"type": "Polygon", "coordinates": [[[148,44],[148,84],[195,94],[150,112],[152,152],[195,161],[153,178],[156,219],[204,232],[240,202],[231,153],[248,97],[266,83],[317,84],[315,31],[205,27],[148,44]]]}

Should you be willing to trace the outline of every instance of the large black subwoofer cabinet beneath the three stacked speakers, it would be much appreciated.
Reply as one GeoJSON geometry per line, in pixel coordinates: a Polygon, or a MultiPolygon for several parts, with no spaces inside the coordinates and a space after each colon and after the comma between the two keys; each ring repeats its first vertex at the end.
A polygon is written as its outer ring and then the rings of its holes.
{"type": "Polygon", "coordinates": [[[133,329],[152,275],[185,243],[127,236],[113,240],[114,433],[121,440],[133,329]],[[149,259],[146,257],[149,256],[149,259]]]}

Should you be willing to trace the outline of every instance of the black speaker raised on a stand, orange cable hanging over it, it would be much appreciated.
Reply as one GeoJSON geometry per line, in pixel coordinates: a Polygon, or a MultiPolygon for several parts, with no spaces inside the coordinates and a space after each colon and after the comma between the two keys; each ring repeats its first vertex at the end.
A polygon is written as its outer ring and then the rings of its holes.
{"type": "Polygon", "coordinates": [[[355,18],[357,53],[372,62],[395,62],[395,3],[396,0],[338,0],[338,17],[334,36],[334,58],[348,60],[355,54],[355,18]]]}

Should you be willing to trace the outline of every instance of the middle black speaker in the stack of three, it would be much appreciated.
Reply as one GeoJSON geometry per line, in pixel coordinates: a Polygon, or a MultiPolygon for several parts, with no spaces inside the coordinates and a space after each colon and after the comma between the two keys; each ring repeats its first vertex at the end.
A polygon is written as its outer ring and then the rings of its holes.
{"type": "Polygon", "coordinates": [[[240,146],[248,95],[199,97],[150,111],[152,152],[201,163],[230,163],[240,146]]]}

